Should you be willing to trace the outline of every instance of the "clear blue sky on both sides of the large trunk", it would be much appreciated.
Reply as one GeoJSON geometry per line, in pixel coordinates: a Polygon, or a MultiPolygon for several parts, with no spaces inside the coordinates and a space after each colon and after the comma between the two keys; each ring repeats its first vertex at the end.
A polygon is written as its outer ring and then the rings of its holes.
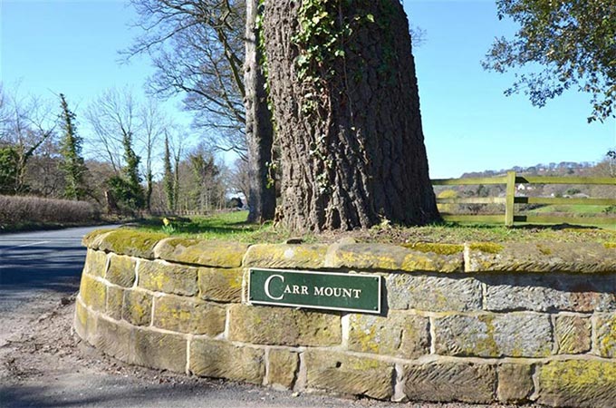
{"type": "MultiPolygon", "coordinates": [[[[426,31],[415,50],[430,175],[499,170],[551,161],[597,161],[616,146],[616,121],[587,124],[589,98],[568,92],[542,109],[505,97],[513,74],[483,71],[495,36],[513,34],[492,0],[405,0],[411,24],[426,31]]],[[[120,0],[0,0],[0,79],[44,97],[64,92],[80,110],[111,87],[143,92],[149,61],[118,63],[139,34],[120,0]]],[[[168,111],[186,121],[178,102],[168,111]]],[[[87,130],[83,130],[87,131],[87,130]]],[[[85,136],[85,135],[84,135],[85,136]]]]}

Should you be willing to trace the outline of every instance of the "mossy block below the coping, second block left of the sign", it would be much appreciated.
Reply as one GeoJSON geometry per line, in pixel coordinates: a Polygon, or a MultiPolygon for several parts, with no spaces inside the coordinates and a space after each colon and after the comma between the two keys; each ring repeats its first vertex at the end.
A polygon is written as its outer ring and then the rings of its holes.
{"type": "Polygon", "coordinates": [[[172,295],[197,295],[197,268],[181,267],[161,261],[140,261],[139,287],[172,295]]]}

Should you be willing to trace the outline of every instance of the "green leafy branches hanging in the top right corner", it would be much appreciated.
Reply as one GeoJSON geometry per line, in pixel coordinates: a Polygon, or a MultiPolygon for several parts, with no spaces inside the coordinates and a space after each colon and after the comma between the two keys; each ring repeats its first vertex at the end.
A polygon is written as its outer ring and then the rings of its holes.
{"type": "Polygon", "coordinates": [[[498,18],[520,29],[496,38],[484,68],[516,69],[505,94],[524,92],[536,106],[577,86],[592,97],[588,121],[614,117],[616,2],[605,0],[497,0],[498,18]],[[527,70],[518,70],[522,67],[527,70]]]}

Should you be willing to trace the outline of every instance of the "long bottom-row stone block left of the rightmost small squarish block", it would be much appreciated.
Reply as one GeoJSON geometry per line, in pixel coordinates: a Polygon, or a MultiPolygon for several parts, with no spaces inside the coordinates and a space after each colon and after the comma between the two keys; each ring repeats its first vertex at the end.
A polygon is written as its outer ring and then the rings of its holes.
{"type": "Polygon", "coordinates": [[[402,382],[411,401],[492,403],[496,396],[496,368],[490,364],[409,364],[402,382]]]}

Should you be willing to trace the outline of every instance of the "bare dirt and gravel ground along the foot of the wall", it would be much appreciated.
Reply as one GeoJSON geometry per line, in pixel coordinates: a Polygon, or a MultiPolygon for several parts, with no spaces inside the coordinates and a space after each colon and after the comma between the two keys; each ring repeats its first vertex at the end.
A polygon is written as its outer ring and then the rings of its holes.
{"type": "MultiPolygon", "coordinates": [[[[384,403],[198,378],[123,364],[72,329],[76,294],[43,292],[0,315],[0,407],[470,408],[384,403]]],[[[489,408],[505,408],[493,404],[489,408]]]]}

